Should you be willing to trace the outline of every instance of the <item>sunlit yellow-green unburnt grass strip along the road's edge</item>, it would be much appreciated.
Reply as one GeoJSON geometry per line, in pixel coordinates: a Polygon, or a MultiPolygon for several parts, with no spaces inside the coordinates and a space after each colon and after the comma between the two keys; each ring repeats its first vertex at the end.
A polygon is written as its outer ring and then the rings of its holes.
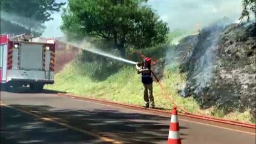
{"type": "MultiPolygon", "coordinates": [[[[55,84],[48,85],[46,89],[64,91],[81,97],[99,98],[120,103],[143,104],[143,85],[140,82],[140,75],[136,73],[134,67],[122,67],[117,73],[112,74],[105,80],[96,81],[80,73],[75,62],[67,64],[63,71],[55,75],[55,84]]],[[[193,97],[182,98],[177,94],[177,89],[186,80],[185,74],[181,74],[175,67],[171,71],[164,71],[163,83],[164,91],[157,83],[154,83],[155,106],[162,109],[172,109],[172,98],[178,106],[189,112],[204,115],[213,115],[218,118],[231,119],[242,122],[254,122],[249,110],[245,113],[239,111],[223,115],[222,110],[217,107],[201,110],[198,101],[193,97]],[[166,93],[167,92],[167,95],[166,93]]]]}

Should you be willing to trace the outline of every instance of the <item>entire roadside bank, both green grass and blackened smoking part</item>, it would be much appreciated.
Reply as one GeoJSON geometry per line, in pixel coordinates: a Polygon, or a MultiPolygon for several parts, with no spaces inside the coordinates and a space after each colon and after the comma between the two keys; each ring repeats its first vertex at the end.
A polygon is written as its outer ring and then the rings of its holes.
{"type": "MultiPolygon", "coordinates": [[[[166,56],[152,67],[166,91],[154,83],[155,105],[171,109],[173,99],[189,112],[255,122],[254,31],[255,25],[219,22],[182,38],[176,46],[165,47],[166,56]]],[[[143,104],[143,85],[134,66],[86,51],[55,79],[46,88],[143,104]]]]}

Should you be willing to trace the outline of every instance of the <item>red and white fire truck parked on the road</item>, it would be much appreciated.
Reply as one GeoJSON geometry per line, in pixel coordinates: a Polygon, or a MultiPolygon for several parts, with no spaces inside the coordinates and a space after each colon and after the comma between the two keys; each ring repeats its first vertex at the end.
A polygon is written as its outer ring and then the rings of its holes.
{"type": "Polygon", "coordinates": [[[54,83],[55,39],[40,41],[33,35],[0,35],[0,82],[11,87],[30,86],[42,91],[54,83]]]}

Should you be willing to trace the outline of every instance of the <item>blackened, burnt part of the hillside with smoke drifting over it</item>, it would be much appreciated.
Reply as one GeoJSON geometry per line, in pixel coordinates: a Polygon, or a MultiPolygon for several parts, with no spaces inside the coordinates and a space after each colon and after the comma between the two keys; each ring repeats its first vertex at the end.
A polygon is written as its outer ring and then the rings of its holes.
{"type": "Polygon", "coordinates": [[[175,54],[185,56],[179,59],[187,73],[181,96],[193,96],[201,109],[214,106],[222,116],[250,110],[255,117],[255,36],[255,23],[216,23],[183,38],[175,46],[175,54]]]}

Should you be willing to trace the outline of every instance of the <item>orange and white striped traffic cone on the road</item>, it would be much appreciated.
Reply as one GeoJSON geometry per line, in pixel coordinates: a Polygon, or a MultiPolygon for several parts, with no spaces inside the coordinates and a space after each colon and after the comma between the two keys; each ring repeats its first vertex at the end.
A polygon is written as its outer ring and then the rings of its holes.
{"type": "Polygon", "coordinates": [[[167,144],[181,144],[180,126],[176,107],[173,107],[172,117],[170,118],[170,128],[167,144]]]}

